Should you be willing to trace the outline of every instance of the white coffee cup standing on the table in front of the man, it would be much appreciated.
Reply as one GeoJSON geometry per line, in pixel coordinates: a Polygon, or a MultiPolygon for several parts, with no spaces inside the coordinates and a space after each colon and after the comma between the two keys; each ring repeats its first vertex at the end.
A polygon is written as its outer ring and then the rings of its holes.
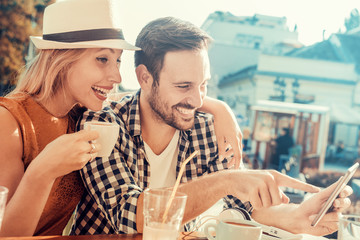
{"type": "Polygon", "coordinates": [[[260,240],[261,225],[245,219],[222,219],[217,223],[208,223],[204,232],[209,240],[260,240]],[[210,233],[215,230],[216,237],[210,233]]]}

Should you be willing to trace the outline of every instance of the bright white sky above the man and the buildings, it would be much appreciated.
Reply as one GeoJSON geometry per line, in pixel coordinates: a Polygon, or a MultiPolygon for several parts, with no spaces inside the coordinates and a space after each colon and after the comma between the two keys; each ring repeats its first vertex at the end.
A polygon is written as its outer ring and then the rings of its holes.
{"type": "MultiPolygon", "coordinates": [[[[311,45],[344,31],[344,20],[357,8],[360,0],[121,0],[124,6],[123,32],[134,44],[141,28],[159,17],[173,16],[201,27],[209,14],[230,12],[236,16],[263,14],[286,17],[290,30],[297,25],[299,41],[311,45]]],[[[125,51],[121,63],[122,85],[136,89],[138,83],[133,64],[133,52],[125,51]]]]}

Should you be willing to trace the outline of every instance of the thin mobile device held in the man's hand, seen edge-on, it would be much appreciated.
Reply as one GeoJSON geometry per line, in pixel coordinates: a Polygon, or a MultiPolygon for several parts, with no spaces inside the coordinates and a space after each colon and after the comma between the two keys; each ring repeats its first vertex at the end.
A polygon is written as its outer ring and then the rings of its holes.
{"type": "Polygon", "coordinates": [[[327,211],[332,207],[333,202],[335,199],[339,196],[340,192],[344,189],[346,184],[350,181],[354,173],[356,172],[356,169],[359,167],[359,163],[355,163],[352,165],[345,173],[344,176],[342,176],[337,183],[334,191],[331,193],[328,200],[325,202],[324,206],[321,208],[320,212],[316,215],[314,221],[311,223],[311,226],[316,226],[318,222],[321,220],[321,218],[327,213],[327,211]]]}

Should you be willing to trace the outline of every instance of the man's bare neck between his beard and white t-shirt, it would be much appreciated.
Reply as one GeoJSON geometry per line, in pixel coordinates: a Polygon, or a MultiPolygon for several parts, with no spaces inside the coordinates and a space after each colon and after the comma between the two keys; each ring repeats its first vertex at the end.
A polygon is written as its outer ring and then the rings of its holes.
{"type": "Polygon", "coordinates": [[[141,99],[141,97],[140,124],[143,140],[156,155],[161,154],[165,150],[176,131],[175,128],[159,120],[148,103],[141,99]]]}

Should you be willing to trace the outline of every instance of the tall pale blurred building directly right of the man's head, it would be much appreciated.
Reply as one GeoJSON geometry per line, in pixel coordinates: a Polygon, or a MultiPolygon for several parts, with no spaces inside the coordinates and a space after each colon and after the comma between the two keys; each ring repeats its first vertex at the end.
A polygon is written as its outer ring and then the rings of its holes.
{"type": "Polygon", "coordinates": [[[283,55],[301,47],[298,33],[289,31],[286,18],[254,15],[234,16],[229,12],[214,12],[202,25],[214,42],[209,49],[212,70],[210,95],[217,95],[220,79],[258,63],[259,55],[283,55]]]}

